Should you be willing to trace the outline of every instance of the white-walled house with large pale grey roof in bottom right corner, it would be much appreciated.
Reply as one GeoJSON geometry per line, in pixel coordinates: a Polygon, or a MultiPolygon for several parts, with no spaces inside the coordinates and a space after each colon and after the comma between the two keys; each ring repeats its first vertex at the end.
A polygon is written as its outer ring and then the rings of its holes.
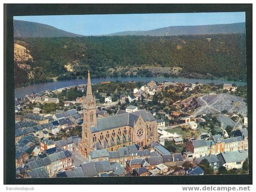
{"type": "Polygon", "coordinates": [[[248,158],[248,151],[225,151],[218,154],[217,157],[220,160],[220,165],[226,169],[240,169],[243,162],[248,158]]]}

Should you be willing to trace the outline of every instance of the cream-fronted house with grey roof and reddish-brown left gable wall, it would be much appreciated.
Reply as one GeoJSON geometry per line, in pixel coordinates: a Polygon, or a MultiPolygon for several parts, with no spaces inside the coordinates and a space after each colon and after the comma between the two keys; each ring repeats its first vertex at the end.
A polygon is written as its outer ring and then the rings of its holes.
{"type": "Polygon", "coordinates": [[[198,158],[201,156],[208,155],[208,145],[204,139],[189,140],[187,143],[187,151],[190,151],[192,154],[187,156],[192,158],[198,158]]]}

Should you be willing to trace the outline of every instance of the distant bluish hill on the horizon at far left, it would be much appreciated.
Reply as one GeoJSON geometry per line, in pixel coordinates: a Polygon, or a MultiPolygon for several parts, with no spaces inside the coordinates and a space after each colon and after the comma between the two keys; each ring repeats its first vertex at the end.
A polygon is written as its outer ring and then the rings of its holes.
{"type": "Polygon", "coordinates": [[[50,25],[30,21],[13,21],[14,37],[81,37],[50,25]]]}

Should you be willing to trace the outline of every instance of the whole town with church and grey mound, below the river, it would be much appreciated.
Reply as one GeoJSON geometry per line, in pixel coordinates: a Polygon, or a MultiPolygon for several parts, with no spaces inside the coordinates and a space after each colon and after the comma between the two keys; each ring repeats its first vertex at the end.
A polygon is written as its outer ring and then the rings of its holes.
{"type": "MultiPolygon", "coordinates": [[[[92,72],[93,73],[93,72],[92,72]]],[[[15,99],[16,177],[248,173],[246,86],[101,82],[15,99]]]]}

